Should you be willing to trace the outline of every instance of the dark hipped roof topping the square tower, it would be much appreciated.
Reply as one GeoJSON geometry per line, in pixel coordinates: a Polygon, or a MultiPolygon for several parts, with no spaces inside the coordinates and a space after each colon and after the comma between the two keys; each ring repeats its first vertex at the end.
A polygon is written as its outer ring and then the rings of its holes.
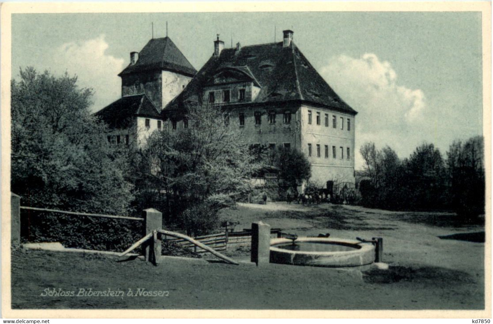
{"type": "Polygon", "coordinates": [[[163,37],[149,40],[139,53],[137,62],[134,65],[128,65],[118,75],[155,69],[170,70],[188,76],[197,73],[170,37],[163,37]]]}

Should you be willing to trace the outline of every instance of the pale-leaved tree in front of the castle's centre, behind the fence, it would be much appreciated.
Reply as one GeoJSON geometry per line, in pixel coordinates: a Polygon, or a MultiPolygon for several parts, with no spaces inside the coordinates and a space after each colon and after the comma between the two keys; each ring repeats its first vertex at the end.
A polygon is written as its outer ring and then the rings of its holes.
{"type": "MultiPolygon", "coordinates": [[[[138,172],[145,179],[140,190],[161,204],[168,222],[183,216],[186,224],[193,224],[190,215],[195,213],[184,213],[186,209],[211,208],[209,202],[217,195],[227,199],[246,192],[256,164],[244,136],[229,127],[217,106],[193,106],[184,117],[188,129],[178,134],[156,131],[148,138],[138,172]]],[[[195,232],[203,230],[195,228],[195,232]]]]}

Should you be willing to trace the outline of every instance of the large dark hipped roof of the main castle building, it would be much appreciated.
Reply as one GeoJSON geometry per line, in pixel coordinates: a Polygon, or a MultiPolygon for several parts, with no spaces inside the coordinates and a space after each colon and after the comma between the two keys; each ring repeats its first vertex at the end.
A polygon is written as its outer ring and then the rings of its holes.
{"type": "Polygon", "coordinates": [[[245,46],[235,52],[235,48],[228,48],[219,57],[212,56],[163,112],[181,108],[187,102],[201,103],[203,88],[211,77],[219,70],[235,68],[247,69],[260,85],[256,99],[247,104],[298,101],[357,113],[332,90],[293,42],[288,47],[282,47],[282,42],[245,46]]]}

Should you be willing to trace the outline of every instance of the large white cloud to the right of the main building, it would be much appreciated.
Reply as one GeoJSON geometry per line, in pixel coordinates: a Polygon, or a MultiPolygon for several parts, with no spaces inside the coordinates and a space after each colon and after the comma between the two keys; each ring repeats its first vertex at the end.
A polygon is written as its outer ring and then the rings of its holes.
{"type": "MultiPolygon", "coordinates": [[[[389,145],[399,156],[409,154],[410,138],[421,128],[427,110],[424,93],[398,84],[397,72],[387,61],[366,53],[359,58],[332,57],[320,74],[356,115],[356,168],[361,167],[359,147],[366,141],[389,145]]],[[[411,151],[414,149],[411,145],[411,151]]]]}

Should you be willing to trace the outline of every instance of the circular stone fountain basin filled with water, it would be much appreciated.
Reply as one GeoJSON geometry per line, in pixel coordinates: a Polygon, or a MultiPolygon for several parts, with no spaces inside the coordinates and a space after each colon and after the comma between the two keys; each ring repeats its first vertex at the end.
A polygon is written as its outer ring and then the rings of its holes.
{"type": "Polygon", "coordinates": [[[270,261],[272,263],[352,267],[375,261],[375,247],[357,240],[326,237],[298,237],[271,239],[270,261]]]}

